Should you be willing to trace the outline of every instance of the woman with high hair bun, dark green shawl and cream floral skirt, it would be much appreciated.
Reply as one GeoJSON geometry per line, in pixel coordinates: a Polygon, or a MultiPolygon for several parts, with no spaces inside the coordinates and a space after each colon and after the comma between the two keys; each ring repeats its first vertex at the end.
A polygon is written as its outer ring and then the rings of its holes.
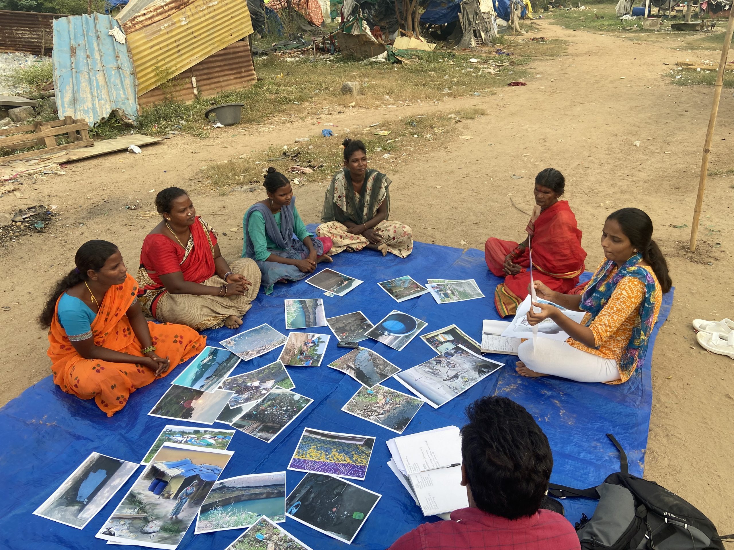
{"type": "Polygon", "coordinates": [[[413,252],[413,232],[405,224],[388,221],[390,178],[367,168],[367,148],[358,139],[344,140],[344,170],[337,172],[324,198],[316,235],[330,237],[330,255],[363,248],[401,258],[413,252]]]}

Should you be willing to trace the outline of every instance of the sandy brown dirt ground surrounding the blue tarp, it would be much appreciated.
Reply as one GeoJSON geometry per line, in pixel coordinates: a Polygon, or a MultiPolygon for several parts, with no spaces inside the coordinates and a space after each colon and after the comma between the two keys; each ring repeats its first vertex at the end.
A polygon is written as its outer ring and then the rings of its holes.
{"type": "MultiPolygon", "coordinates": [[[[653,356],[653,417],[645,474],[689,499],[719,527],[734,532],[734,364],[697,345],[691,320],[733,317],[734,177],[708,180],[698,251],[687,252],[701,147],[711,87],[673,87],[661,76],[678,59],[718,59],[654,42],[572,32],[539,21],[536,33],[568,40],[567,55],[536,59],[526,87],[493,96],[370,111],[333,110],[336,130],[406,114],[480,106],[487,114],[462,122],[462,136],[440,151],[418,151],[382,169],[393,179],[393,217],[413,227],[419,241],[482,249],[490,235],[521,238],[532,180],[547,166],[567,178],[566,199],[584,232],[587,268],[602,254],[598,244],[606,215],[643,208],[655,222],[675,282],[675,304],[653,356]],[[536,76],[537,75],[537,76],[536,76]],[[639,140],[639,147],[633,142],[639,140]],[[520,175],[522,179],[511,176],[520,175]]],[[[712,147],[711,169],[734,158],[734,98],[725,91],[712,147]]],[[[321,120],[326,120],[322,117],[321,120]]],[[[3,292],[0,320],[5,342],[0,398],[4,403],[49,374],[46,334],[34,319],[53,282],[73,267],[73,254],[91,238],[114,241],[137,273],[145,234],[157,223],[156,191],[189,189],[198,213],[216,227],[225,257],[241,252],[241,217],[261,192],[226,196],[203,183],[201,166],[236,158],[271,144],[292,144],[320,131],[313,117],[222,128],[206,140],[177,136],[141,155],[117,153],[68,166],[64,176],[26,185],[29,199],[3,197],[1,210],[57,205],[59,220],[45,235],[32,235],[0,250],[3,292]],[[125,205],[139,201],[140,210],[125,205]],[[6,307],[10,309],[5,310],[6,307]]],[[[381,159],[380,159],[381,160],[381,159]]],[[[297,188],[299,211],[317,221],[324,186],[297,188]]]]}

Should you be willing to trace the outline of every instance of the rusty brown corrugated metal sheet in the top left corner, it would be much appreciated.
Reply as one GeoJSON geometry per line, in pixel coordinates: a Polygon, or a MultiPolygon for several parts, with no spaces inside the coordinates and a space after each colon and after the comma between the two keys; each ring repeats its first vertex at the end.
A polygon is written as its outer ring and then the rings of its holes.
{"type": "Polygon", "coordinates": [[[50,56],[54,49],[54,19],[60,17],[67,16],[0,10],[0,51],[50,56]]]}

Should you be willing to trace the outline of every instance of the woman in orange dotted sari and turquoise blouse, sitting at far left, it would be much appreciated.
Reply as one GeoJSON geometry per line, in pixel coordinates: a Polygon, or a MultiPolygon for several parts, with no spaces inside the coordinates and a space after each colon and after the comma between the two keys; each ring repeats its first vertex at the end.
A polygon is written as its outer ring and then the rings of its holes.
{"type": "Polygon", "coordinates": [[[112,417],[136,389],[202,351],[206,337],[187,326],[145,321],[137,282],[114,244],[87,241],[74,263],[39,317],[50,329],[54,384],[81,399],[94,398],[112,417]]]}

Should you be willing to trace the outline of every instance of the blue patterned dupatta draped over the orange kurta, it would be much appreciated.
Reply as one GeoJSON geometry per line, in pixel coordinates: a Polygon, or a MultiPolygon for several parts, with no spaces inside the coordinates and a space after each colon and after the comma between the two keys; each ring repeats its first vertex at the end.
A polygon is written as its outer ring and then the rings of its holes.
{"type": "Polygon", "coordinates": [[[644,284],[644,299],[639,307],[637,321],[632,329],[632,335],[625,349],[625,353],[622,354],[617,364],[619,373],[622,375],[622,380],[629,378],[637,367],[642,367],[647,353],[647,343],[650,340],[650,333],[653,331],[653,318],[655,317],[655,301],[653,300],[655,278],[650,274],[650,271],[647,271],[642,265],[639,265],[641,261],[642,254],[635,254],[609,279],[607,279],[607,276],[616,264],[612,260],[603,263],[594,276],[592,276],[589,285],[584,290],[584,295],[581,296],[581,303],[578,304],[578,309],[591,314],[591,318],[589,319],[589,323],[591,323],[599,315],[599,312],[609,300],[611,293],[617,287],[617,283],[623,277],[634,277],[644,284]]]}

